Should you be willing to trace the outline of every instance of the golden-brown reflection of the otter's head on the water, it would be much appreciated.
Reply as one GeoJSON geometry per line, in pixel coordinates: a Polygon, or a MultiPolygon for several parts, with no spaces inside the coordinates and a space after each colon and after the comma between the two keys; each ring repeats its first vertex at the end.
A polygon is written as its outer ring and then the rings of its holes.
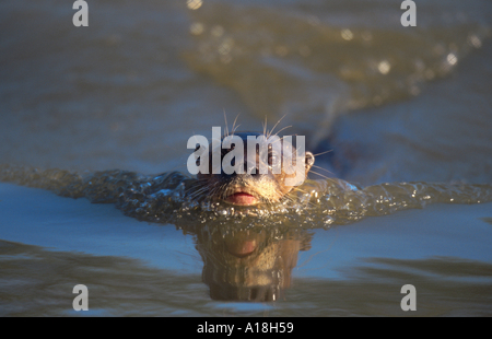
{"type": "Polygon", "coordinates": [[[300,250],[311,248],[305,230],[258,225],[247,229],[224,224],[183,227],[196,235],[203,260],[202,279],[210,296],[221,301],[268,302],[283,299],[291,285],[300,250]]]}

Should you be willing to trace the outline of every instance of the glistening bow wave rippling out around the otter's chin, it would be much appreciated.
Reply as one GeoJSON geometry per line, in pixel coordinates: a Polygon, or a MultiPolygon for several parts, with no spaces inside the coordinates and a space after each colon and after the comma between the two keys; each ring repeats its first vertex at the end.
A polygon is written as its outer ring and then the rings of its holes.
{"type": "Polygon", "coordinates": [[[492,201],[492,185],[399,183],[365,188],[341,179],[306,180],[294,199],[260,207],[232,207],[206,197],[191,198],[195,178],[178,172],[149,176],[127,171],[71,173],[63,170],[0,166],[0,180],[49,189],[57,195],[94,203],[115,203],[139,220],[225,222],[258,225],[293,225],[306,229],[347,224],[365,217],[421,209],[429,203],[481,203],[492,201]]]}

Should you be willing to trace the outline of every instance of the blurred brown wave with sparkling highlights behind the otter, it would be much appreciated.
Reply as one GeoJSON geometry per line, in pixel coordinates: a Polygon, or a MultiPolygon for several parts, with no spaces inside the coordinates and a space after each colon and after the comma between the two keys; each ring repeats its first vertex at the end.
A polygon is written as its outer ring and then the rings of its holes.
{"type": "Polygon", "coordinates": [[[185,59],[234,89],[258,117],[274,112],[305,120],[309,112],[329,125],[337,114],[418,95],[491,35],[490,26],[459,11],[449,14],[452,24],[437,24],[441,12],[425,24],[419,7],[419,25],[407,30],[394,1],[350,15],[314,3],[302,10],[208,1],[190,11],[195,45],[185,59]],[[344,20],[333,20],[337,13],[344,20]],[[367,20],[377,13],[386,20],[367,20]]]}

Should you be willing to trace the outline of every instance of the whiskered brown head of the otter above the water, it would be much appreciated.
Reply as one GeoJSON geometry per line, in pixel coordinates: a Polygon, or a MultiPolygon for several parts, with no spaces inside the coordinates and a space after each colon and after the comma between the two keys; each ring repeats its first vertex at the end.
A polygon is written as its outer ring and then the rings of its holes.
{"type": "Polygon", "coordinates": [[[288,139],[235,132],[212,141],[197,156],[197,166],[204,170],[197,174],[200,186],[209,198],[235,206],[279,202],[304,182],[314,164],[311,152],[303,156],[288,139]]]}

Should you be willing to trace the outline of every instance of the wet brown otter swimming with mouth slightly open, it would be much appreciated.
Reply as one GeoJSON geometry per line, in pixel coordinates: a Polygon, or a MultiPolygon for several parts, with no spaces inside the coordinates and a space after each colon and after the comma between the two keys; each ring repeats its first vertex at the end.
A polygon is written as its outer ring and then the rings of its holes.
{"type": "MultiPolygon", "coordinates": [[[[224,168],[221,168],[219,172],[212,173],[210,171],[212,168],[212,143],[209,144],[208,148],[208,164],[206,164],[206,168],[209,171],[204,171],[207,173],[199,172],[197,174],[198,184],[200,186],[201,191],[207,191],[208,197],[212,200],[220,200],[233,206],[257,206],[260,203],[276,203],[282,201],[295,187],[295,185],[289,185],[288,180],[293,179],[296,176],[296,161],[297,161],[297,150],[296,148],[286,140],[286,138],[277,139],[280,142],[281,147],[276,147],[274,142],[268,143],[271,141],[269,135],[259,133],[259,132],[233,132],[231,136],[238,137],[243,141],[243,150],[236,149],[236,143],[234,141],[231,143],[230,149],[221,150],[221,161],[224,160],[225,156],[230,152],[243,152],[243,161],[236,161],[233,159],[231,164],[235,166],[235,168],[241,168],[244,171],[236,171],[234,173],[227,174],[224,168]],[[268,143],[268,154],[266,156],[261,156],[261,152],[259,148],[256,148],[256,156],[253,155],[253,159],[256,157],[256,162],[253,164],[246,161],[248,159],[248,137],[265,137],[268,143]],[[208,168],[207,168],[208,166],[208,168]],[[279,171],[273,171],[274,168],[279,168],[279,171]],[[261,171],[261,168],[267,168],[267,172],[261,171]]],[[[223,136],[221,139],[221,143],[227,136],[223,136]]],[[[237,139],[236,139],[237,140],[237,139]]],[[[241,145],[241,142],[239,142],[241,145]]],[[[279,145],[279,144],[278,144],[279,145]]],[[[196,148],[196,151],[199,150],[200,147],[196,148]]],[[[200,159],[197,159],[197,166],[203,165],[200,163],[200,159]]],[[[302,176],[302,182],[307,176],[311,167],[314,164],[315,157],[313,153],[305,152],[305,156],[303,159],[304,174],[302,176]]]]}

